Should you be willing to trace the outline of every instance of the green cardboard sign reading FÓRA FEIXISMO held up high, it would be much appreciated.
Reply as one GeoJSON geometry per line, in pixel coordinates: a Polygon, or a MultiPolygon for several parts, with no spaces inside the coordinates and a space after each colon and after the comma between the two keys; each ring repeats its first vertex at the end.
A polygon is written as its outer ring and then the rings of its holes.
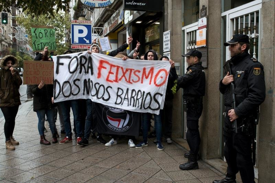
{"type": "Polygon", "coordinates": [[[51,26],[31,26],[32,49],[34,52],[43,51],[48,46],[49,51],[56,50],[55,30],[51,26]]]}

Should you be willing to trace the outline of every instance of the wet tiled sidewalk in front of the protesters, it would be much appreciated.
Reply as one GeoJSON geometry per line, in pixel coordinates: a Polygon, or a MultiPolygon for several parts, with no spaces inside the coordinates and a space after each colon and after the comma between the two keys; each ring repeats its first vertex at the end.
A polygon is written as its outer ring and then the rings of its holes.
{"type": "MultiPolygon", "coordinates": [[[[211,183],[223,174],[199,161],[198,170],[183,171],[178,167],[187,161],[182,147],[163,143],[159,151],[149,140],[148,147],[129,148],[126,140],[105,147],[90,139],[89,145],[41,145],[37,115],[32,101],[22,103],[13,136],[20,145],[15,151],[5,149],[5,119],[0,119],[0,182],[184,182],[211,183]]],[[[73,121],[73,120],[72,120],[73,121]]],[[[46,123],[48,125],[48,123],[46,123]]],[[[46,128],[49,130],[48,126],[46,128]]],[[[57,122],[57,128],[59,128],[57,122]]],[[[60,132],[60,130],[58,130],[60,132]]],[[[45,133],[52,140],[50,132],[45,133]]],[[[64,137],[64,136],[62,136],[64,137]]],[[[104,137],[106,141],[110,137],[104,137]]],[[[58,138],[60,141],[62,138],[58,138]]],[[[138,142],[141,139],[138,139],[138,142]]]]}

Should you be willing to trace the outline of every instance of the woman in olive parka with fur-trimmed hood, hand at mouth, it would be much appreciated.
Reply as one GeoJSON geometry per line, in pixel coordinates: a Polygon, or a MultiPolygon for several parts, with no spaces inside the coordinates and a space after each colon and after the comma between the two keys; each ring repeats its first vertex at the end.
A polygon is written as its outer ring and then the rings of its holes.
{"type": "Polygon", "coordinates": [[[19,87],[22,79],[15,69],[17,65],[17,58],[12,55],[7,55],[0,61],[0,108],[5,118],[5,146],[8,150],[15,150],[14,145],[19,145],[13,138],[15,118],[21,104],[19,87]]]}

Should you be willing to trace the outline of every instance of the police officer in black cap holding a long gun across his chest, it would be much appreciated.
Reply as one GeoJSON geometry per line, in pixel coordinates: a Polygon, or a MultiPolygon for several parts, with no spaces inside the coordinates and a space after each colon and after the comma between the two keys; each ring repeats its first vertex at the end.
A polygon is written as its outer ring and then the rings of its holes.
{"type": "Polygon", "coordinates": [[[213,183],[236,182],[238,171],[244,183],[252,183],[254,164],[251,143],[258,119],[257,111],[265,100],[266,93],[263,66],[257,60],[251,59],[247,35],[233,35],[224,46],[229,46],[231,52],[231,59],[226,64],[231,66],[232,73],[230,75],[230,72],[226,72],[219,86],[220,92],[224,94],[224,156],[228,167],[226,178],[213,183]],[[231,82],[235,86],[234,90],[230,88],[231,82]],[[235,109],[232,108],[232,92],[236,96],[235,109]],[[234,120],[237,120],[237,126],[234,125],[234,120]]]}

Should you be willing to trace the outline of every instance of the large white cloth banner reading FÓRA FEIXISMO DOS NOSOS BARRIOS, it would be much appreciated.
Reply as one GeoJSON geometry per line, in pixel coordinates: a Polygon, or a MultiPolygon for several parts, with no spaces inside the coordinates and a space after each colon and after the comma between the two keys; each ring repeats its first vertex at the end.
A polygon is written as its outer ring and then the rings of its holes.
{"type": "Polygon", "coordinates": [[[111,107],[159,114],[170,71],[168,61],[122,60],[88,52],[58,55],[54,101],[91,99],[111,107]]]}

